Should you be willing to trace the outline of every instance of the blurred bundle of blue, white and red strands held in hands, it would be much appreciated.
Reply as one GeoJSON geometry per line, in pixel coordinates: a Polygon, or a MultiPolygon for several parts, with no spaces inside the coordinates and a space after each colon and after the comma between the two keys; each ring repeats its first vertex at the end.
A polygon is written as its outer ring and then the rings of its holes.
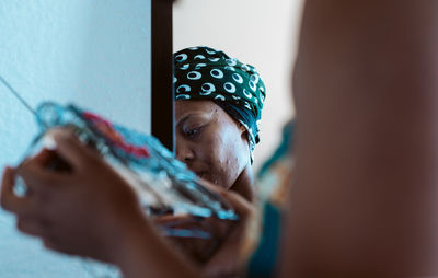
{"type": "MultiPolygon", "coordinates": [[[[32,146],[34,152],[50,141],[47,140],[50,129],[59,126],[72,128],[79,140],[95,149],[132,185],[147,215],[188,215],[223,220],[238,218],[218,194],[201,186],[196,174],[152,136],[114,125],[73,105],[64,107],[44,103],[37,115],[42,134],[32,146]]],[[[168,229],[163,232],[171,236],[210,236],[195,230],[168,229]]]]}

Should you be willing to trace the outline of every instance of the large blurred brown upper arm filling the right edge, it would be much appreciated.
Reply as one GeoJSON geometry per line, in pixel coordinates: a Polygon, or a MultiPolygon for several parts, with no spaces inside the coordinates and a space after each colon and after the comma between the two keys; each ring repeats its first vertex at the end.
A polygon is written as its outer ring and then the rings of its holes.
{"type": "Polygon", "coordinates": [[[308,0],[281,277],[438,274],[438,2],[308,0]]]}

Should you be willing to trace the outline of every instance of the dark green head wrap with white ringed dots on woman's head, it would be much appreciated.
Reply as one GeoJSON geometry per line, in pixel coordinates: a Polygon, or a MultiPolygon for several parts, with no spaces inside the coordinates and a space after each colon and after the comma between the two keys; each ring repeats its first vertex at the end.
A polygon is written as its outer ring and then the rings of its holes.
{"type": "Polygon", "coordinates": [[[266,96],[257,70],[205,46],[175,53],[174,63],[175,99],[214,101],[246,128],[252,158],[266,96]]]}

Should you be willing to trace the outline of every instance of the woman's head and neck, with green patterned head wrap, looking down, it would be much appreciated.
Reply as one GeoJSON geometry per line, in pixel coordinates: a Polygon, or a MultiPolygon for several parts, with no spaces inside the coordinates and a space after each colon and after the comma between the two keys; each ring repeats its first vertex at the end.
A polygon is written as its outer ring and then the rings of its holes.
{"type": "Polygon", "coordinates": [[[265,85],[254,67],[209,47],[175,53],[176,158],[254,200],[252,161],[265,85]]]}

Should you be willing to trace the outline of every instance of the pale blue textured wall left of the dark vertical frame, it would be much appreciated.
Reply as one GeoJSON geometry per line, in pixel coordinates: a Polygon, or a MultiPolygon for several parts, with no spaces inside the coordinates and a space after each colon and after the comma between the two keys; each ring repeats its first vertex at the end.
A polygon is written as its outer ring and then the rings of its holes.
{"type": "MultiPolygon", "coordinates": [[[[0,0],[0,74],[32,106],[74,102],[150,130],[150,0],[0,0]]],[[[0,84],[0,166],[36,134],[0,84]]],[[[46,252],[0,211],[0,278],[89,277],[78,259],[46,252]]]]}

